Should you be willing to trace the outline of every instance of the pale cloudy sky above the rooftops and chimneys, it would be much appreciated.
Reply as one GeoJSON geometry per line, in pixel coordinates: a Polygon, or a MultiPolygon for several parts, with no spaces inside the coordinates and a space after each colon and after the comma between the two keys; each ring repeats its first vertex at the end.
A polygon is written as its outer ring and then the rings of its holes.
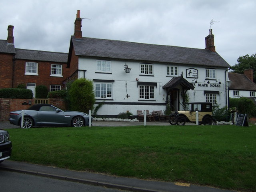
{"type": "Polygon", "coordinates": [[[0,39],[13,25],[15,48],[68,53],[77,10],[83,37],[204,49],[211,28],[231,66],[256,54],[255,0],[0,0],[0,39]]]}

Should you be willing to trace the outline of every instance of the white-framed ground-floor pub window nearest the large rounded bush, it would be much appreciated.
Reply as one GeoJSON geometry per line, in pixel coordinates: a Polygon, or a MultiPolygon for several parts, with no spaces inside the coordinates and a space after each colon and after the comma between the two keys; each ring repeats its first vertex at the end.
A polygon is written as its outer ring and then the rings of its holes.
{"type": "Polygon", "coordinates": [[[96,83],[95,97],[112,99],[112,84],[111,83],[96,83]]]}

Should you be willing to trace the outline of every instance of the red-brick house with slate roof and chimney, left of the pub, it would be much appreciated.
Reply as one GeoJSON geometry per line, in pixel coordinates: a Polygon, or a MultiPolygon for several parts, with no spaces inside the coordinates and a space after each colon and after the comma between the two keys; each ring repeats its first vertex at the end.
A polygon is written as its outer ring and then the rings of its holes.
{"type": "Polygon", "coordinates": [[[8,26],[7,40],[0,40],[0,88],[24,84],[34,96],[39,85],[49,91],[60,90],[69,76],[68,54],[15,48],[13,29],[8,26]]]}

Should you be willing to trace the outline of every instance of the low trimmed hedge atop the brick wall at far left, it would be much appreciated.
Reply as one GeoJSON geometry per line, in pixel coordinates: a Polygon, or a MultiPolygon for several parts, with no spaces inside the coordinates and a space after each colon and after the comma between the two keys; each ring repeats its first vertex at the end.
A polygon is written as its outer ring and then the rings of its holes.
{"type": "Polygon", "coordinates": [[[0,89],[0,98],[32,99],[33,92],[29,89],[3,88],[0,89]]]}

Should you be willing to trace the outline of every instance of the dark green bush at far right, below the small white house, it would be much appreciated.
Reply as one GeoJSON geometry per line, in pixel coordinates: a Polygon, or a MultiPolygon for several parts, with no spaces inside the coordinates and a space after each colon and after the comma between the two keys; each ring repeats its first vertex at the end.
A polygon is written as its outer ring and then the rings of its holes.
{"type": "Polygon", "coordinates": [[[248,114],[249,117],[256,115],[256,106],[249,98],[229,98],[229,107],[236,107],[238,113],[248,114]]]}

